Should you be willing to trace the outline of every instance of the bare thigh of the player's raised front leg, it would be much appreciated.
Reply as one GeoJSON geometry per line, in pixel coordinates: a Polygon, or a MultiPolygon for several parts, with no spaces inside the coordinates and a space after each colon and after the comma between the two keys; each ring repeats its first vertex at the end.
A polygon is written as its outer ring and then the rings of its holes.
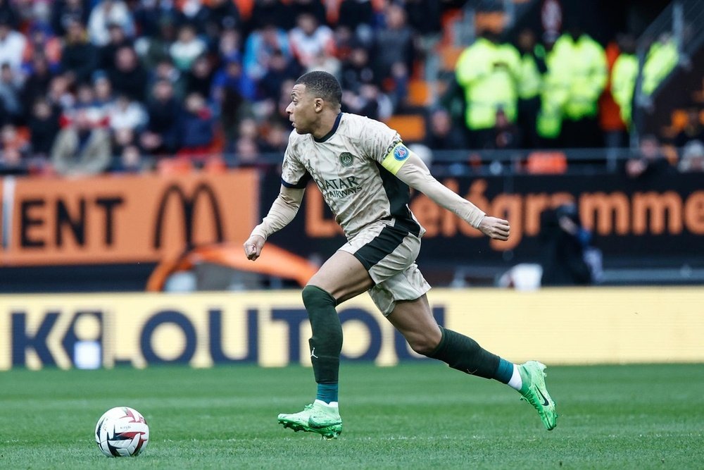
{"type": "Polygon", "coordinates": [[[337,302],[344,302],[369,290],[374,281],[353,254],[337,251],[320,266],[308,285],[320,287],[337,302]]]}

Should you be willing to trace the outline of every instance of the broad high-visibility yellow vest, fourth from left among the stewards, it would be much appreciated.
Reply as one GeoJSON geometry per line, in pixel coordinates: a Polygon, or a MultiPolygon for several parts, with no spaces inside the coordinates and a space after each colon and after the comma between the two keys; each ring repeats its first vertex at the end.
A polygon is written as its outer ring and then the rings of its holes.
{"type": "Polygon", "coordinates": [[[565,34],[555,42],[551,54],[570,70],[570,97],[565,103],[565,117],[579,120],[596,116],[608,70],[604,48],[588,35],[574,41],[565,34]]]}

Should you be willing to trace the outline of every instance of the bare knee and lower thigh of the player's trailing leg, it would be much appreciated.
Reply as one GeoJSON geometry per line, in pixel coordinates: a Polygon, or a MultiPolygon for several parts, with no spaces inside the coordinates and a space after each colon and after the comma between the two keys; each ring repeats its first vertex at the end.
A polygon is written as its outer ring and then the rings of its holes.
{"type": "Polygon", "coordinates": [[[415,300],[401,300],[391,313],[386,316],[408,344],[416,352],[432,352],[440,343],[442,333],[432,309],[428,304],[427,295],[422,295],[415,300]]]}

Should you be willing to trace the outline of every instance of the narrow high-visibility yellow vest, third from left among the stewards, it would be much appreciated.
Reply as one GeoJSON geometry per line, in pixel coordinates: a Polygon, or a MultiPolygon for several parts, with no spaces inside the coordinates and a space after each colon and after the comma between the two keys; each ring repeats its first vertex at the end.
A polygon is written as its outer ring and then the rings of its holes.
{"type": "Polygon", "coordinates": [[[565,104],[572,89],[570,64],[560,61],[553,51],[550,51],[545,59],[547,71],[543,75],[541,108],[536,118],[536,130],[544,139],[560,137],[565,104]]]}

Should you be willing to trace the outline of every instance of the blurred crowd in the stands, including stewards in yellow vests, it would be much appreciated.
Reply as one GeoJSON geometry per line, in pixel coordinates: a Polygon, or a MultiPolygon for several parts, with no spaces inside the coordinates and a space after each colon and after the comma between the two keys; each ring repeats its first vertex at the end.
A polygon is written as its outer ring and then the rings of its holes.
{"type": "MultiPolygon", "coordinates": [[[[524,31],[516,46],[482,32],[439,106],[413,109],[410,80],[436,54],[444,13],[462,3],[0,0],[0,171],[218,166],[223,155],[257,166],[260,154],[286,147],[284,109],[308,70],[337,75],[344,111],[382,120],[427,112],[423,143],[432,149],[623,144],[637,75],[632,38],[607,54],[576,26],[547,41],[524,31]],[[620,116],[611,127],[599,122],[608,84],[620,116]],[[453,97],[465,111],[452,111],[453,97]]],[[[648,63],[652,91],[677,63],[667,37],[648,63]]],[[[681,145],[703,139],[698,117],[677,136],[681,145]]]]}

